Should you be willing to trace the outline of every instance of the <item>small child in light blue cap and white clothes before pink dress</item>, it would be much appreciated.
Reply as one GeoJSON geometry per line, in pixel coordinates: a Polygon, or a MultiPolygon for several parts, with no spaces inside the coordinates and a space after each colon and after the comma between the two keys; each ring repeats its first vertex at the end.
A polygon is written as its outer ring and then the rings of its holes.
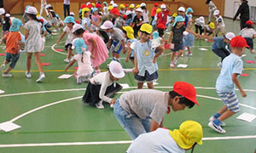
{"type": "Polygon", "coordinates": [[[77,54],[73,57],[73,61],[67,65],[65,71],[78,61],[79,69],[74,72],[74,77],[77,78],[78,84],[88,82],[89,78],[92,77],[94,73],[90,63],[90,57],[92,57],[92,55],[87,51],[87,46],[84,44],[84,40],[82,38],[74,39],[72,48],[76,48],[77,54]]]}

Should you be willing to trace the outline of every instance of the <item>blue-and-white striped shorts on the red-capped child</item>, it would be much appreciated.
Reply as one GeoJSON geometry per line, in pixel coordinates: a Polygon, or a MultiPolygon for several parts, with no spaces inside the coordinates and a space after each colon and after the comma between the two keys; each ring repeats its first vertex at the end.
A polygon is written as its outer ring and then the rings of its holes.
{"type": "Polygon", "coordinates": [[[224,105],[228,107],[229,111],[238,112],[239,110],[239,103],[236,97],[236,93],[234,92],[222,92],[218,91],[219,98],[223,101],[224,105]]]}

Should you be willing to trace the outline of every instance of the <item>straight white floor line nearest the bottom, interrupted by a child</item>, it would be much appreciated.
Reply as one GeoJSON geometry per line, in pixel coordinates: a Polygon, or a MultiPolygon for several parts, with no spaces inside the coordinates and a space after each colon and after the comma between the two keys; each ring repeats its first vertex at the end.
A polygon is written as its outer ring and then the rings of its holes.
{"type": "MultiPolygon", "coordinates": [[[[230,140],[230,139],[255,139],[256,135],[247,136],[228,136],[228,137],[207,137],[203,141],[209,140],[230,140]]],[[[96,141],[96,142],[69,142],[69,143],[38,143],[38,144],[0,144],[0,148],[17,148],[17,147],[44,147],[44,146],[72,146],[72,145],[101,145],[101,144],[131,144],[132,140],[120,141],[96,141]]]]}

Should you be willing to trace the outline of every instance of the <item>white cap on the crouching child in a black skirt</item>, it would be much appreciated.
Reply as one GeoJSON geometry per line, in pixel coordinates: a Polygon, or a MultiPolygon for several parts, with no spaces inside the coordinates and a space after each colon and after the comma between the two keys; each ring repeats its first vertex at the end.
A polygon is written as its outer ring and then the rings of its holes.
{"type": "Polygon", "coordinates": [[[125,72],[122,65],[117,61],[111,61],[109,64],[109,71],[113,77],[122,78],[125,77],[125,72]]]}

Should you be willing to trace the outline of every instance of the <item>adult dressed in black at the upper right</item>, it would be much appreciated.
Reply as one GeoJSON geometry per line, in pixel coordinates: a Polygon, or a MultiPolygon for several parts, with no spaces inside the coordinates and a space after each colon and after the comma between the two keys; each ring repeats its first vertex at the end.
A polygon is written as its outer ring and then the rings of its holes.
{"type": "Polygon", "coordinates": [[[238,8],[233,21],[236,20],[236,17],[240,14],[240,28],[242,29],[247,20],[250,19],[250,9],[247,0],[241,0],[241,5],[238,8]]]}

